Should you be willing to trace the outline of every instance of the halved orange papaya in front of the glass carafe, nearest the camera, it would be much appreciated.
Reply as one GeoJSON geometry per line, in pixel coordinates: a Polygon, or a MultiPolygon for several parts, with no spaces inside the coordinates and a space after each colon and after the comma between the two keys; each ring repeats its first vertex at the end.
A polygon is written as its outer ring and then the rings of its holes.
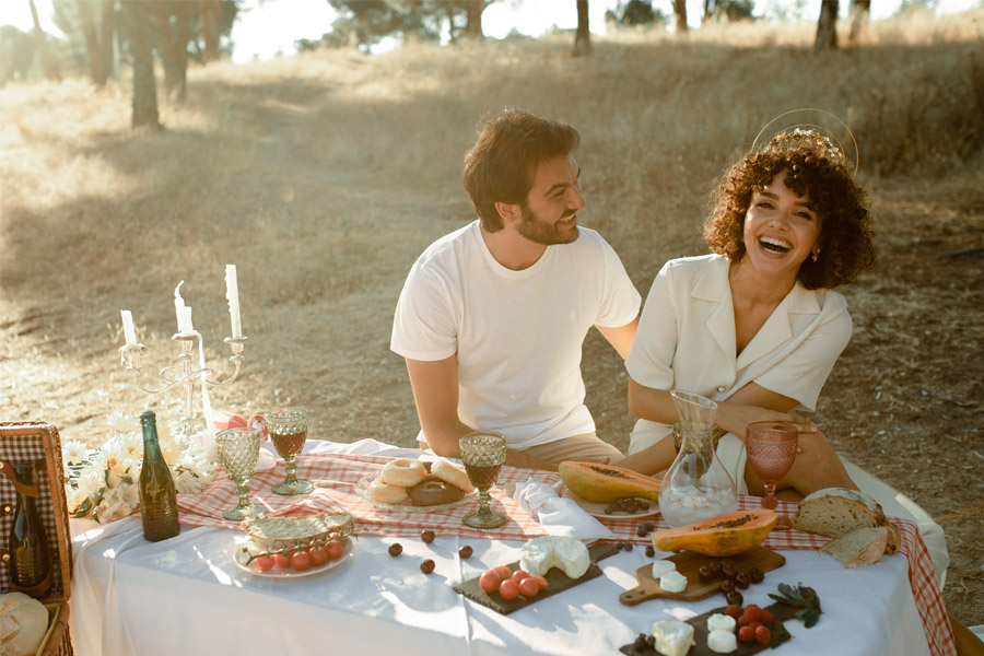
{"type": "Polygon", "coordinates": [[[777,519],[775,511],[765,508],[737,511],[649,535],[660,551],[686,549],[704,555],[735,555],[761,544],[777,519]]]}

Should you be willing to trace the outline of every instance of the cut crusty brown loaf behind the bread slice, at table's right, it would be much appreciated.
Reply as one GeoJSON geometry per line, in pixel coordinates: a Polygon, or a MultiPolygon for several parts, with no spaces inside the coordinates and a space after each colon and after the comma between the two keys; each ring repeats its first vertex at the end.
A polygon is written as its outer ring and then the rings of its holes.
{"type": "Polygon", "coordinates": [[[793,527],[829,538],[840,538],[857,528],[885,527],[885,553],[894,553],[902,546],[902,534],[886,518],[881,506],[857,490],[825,488],[806,496],[799,502],[793,527]]]}

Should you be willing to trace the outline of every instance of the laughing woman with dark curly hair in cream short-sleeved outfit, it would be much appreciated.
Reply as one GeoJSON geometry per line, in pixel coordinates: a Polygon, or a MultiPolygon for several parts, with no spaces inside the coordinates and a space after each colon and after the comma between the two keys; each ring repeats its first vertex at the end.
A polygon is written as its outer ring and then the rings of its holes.
{"type": "Polygon", "coordinates": [[[823,433],[790,414],[813,410],[851,339],[844,297],[875,262],[865,192],[843,155],[816,131],[781,133],[724,176],[704,225],[712,255],[673,259],[643,311],[629,371],[640,418],[622,467],[654,475],[676,457],[671,389],[717,401],[718,457],[739,492],[762,494],[742,438],[754,421],[799,429],[801,453],[780,497],[856,489],[823,433]]]}

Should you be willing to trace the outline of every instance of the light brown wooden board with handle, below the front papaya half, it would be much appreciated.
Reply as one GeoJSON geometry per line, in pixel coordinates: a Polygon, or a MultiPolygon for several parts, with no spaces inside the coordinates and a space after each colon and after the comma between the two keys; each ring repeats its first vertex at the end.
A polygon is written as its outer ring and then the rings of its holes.
{"type": "Polygon", "coordinates": [[[723,576],[715,576],[707,582],[701,581],[699,574],[701,565],[713,561],[730,560],[735,563],[735,567],[739,572],[751,567],[758,567],[763,574],[786,564],[786,559],[784,557],[775,551],[770,551],[764,547],[755,547],[745,553],[726,558],[703,555],[693,551],[681,551],[666,560],[677,563],[677,571],[687,576],[687,589],[682,593],[668,593],[664,590],[659,587],[659,582],[653,577],[653,565],[648,564],[643,565],[635,571],[635,578],[639,579],[639,587],[625,590],[619,595],[619,601],[625,606],[635,606],[636,604],[648,601],[649,599],[655,599],[657,597],[663,599],[679,599],[682,601],[705,599],[719,591],[721,582],[724,578],[723,576]]]}

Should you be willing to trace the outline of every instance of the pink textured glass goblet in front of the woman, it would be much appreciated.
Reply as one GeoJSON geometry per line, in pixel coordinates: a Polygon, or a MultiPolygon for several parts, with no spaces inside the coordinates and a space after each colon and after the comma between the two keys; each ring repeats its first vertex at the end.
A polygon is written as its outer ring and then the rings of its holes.
{"type": "MultiPolygon", "coordinates": [[[[780,421],[757,421],[748,424],[745,432],[745,448],[748,464],[765,487],[762,507],[774,511],[778,505],[775,485],[789,473],[796,460],[799,432],[790,423],[780,421]]],[[[787,517],[780,516],[775,530],[793,528],[787,517]]]]}

